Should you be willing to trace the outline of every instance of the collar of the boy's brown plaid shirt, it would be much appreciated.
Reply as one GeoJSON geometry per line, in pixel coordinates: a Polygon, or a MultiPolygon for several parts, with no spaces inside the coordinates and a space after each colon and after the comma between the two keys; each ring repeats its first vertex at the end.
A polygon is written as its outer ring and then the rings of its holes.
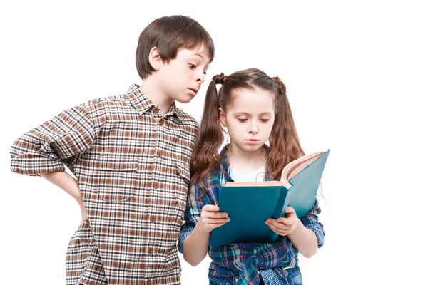
{"type": "MultiPolygon", "coordinates": [[[[130,88],[128,88],[128,91],[126,92],[126,97],[131,100],[131,104],[138,110],[138,113],[143,115],[143,113],[146,113],[151,108],[155,108],[156,105],[147,98],[141,91],[138,89],[140,86],[133,84],[130,88]]],[[[184,115],[183,112],[177,108],[175,105],[175,101],[170,106],[170,109],[165,114],[165,116],[169,115],[175,115],[178,119],[183,120],[184,115]]]]}

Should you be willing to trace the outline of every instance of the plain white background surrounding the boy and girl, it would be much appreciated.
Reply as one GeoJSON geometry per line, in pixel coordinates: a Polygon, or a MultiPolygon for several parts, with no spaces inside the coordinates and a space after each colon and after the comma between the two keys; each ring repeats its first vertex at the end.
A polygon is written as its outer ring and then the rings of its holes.
{"type": "MultiPolygon", "coordinates": [[[[208,78],[251,67],[280,76],[305,151],[331,150],[322,178],[325,246],[300,258],[305,284],[424,283],[422,2],[1,1],[0,283],[63,284],[80,224],[65,192],[10,172],[10,145],[62,110],[141,83],[138,36],[172,14],[192,16],[213,37],[208,78]]],[[[197,120],[207,87],[179,104],[197,120]]],[[[208,284],[208,258],[182,264],[183,284],[208,284]]]]}

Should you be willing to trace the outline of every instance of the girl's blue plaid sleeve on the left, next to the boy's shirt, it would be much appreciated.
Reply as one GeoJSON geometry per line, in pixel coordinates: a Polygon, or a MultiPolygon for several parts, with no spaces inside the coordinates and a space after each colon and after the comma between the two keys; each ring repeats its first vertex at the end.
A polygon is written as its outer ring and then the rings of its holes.
{"type": "Polygon", "coordinates": [[[203,195],[202,188],[198,185],[193,186],[193,190],[188,195],[187,209],[185,210],[184,215],[184,224],[180,229],[180,236],[178,237],[178,252],[183,253],[183,242],[186,237],[190,236],[195,229],[196,223],[200,219],[200,213],[202,212],[202,207],[205,204],[213,204],[209,199],[210,192],[207,192],[206,195],[203,195]]]}

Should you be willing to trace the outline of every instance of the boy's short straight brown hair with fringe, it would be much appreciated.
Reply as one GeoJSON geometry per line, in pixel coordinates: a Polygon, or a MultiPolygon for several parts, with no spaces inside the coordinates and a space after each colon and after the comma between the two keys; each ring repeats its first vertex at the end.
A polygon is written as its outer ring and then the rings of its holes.
{"type": "Polygon", "coordinates": [[[136,51],[136,66],[141,79],[153,71],[148,61],[151,49],[156,46],[164,62],[177,56],[180,48],[192,49],[203,44],[210,62],[214,58],[214,43],[208,31],[188,16],[163,16],[151,22],[140,34],[136,51]]]}

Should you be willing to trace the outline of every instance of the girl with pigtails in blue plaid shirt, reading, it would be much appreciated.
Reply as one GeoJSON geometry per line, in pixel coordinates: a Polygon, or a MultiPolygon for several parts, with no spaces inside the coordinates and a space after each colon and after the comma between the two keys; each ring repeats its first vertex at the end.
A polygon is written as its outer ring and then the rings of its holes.
{"type": "Polygon", "coordinates": [[[304,155],[284,84],[255,68],[214,76],[200,130],[190,162],[193,187],[178,242],[185,261],[196,266],[208,252],[213,260],[210,284],[302,284],[297,253],[312,257],[324,243],[317,201],[301,219],[292,207],[286,217],[267,219],[267,226],[280,234],[275,243],[208,247],[210,232],[230,221],[216,205],[225,182],[279,180],[285,165],[304,155]],[[218,94],[215,84],[223,85],[218,94]],[[222,125],[230,144],[219,155],[222,125]]]}

